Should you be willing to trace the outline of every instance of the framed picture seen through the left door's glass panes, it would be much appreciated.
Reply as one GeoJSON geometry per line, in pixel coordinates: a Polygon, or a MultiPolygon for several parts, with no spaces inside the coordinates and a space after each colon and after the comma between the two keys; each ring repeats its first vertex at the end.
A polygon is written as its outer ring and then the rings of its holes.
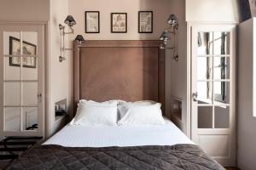
{"type": "MultiPolygon", "coordinates": [[[[23,54],[26,55],[36,55],[37,46],[30,42],[23,41],[23,54]]],[[[15,37],[9,37],[9,54],[10,55],[19,55],[20,54],[20,39],[15,37]]],[[[9,65],[10,66],[20,66],[20,57],[10,57],[9,65]]],[[[22,66],[27,68],[36,68],[37,60],[35,57],[24,57],[22,58],[22,66]]]]}

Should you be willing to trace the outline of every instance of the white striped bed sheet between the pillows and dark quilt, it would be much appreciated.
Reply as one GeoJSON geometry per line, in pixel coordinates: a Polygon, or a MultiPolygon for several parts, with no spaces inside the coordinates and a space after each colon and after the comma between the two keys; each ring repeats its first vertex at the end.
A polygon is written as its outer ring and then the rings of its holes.
{"type": "Polygon", "coordinates": [[[98,126],[71,125],[63,127],[44,144],[66,147],[108,147],[194,144],[171,121],[165,125],[98,126]]]}

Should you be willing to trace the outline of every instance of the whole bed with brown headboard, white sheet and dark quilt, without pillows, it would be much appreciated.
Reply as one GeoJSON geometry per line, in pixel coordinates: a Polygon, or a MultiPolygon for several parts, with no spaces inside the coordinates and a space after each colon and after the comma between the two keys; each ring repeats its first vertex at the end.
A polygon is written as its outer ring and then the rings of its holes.
{"type": "MultiPolygon", "coordinates": [[[[159,47],[159,41],[74,42],[74,113],[80,99],[150,99],[162,104],[165,115],[165,53],[159,47]]],[[[137,126],[70,122],[9,169],[224,169],[168,118],[164,122],[137,126]]]]}

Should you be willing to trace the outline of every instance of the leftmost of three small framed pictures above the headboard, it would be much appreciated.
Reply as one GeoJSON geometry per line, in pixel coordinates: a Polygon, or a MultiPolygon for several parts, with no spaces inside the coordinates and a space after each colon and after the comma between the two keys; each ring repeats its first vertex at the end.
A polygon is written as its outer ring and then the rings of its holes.
{"type": "Polygon", "coordinates": [[[85,33],[100,33],[99,11],[85,11],[85,33]]]}

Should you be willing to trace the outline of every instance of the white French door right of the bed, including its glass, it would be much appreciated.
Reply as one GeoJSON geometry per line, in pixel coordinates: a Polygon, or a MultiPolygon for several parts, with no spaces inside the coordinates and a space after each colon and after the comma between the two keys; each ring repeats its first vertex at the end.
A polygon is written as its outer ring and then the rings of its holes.
{"type": "Polygon", "coordinates": [[[236,26],[192,26],[191,136],[213,159],[236,165],[236,26]]]}

